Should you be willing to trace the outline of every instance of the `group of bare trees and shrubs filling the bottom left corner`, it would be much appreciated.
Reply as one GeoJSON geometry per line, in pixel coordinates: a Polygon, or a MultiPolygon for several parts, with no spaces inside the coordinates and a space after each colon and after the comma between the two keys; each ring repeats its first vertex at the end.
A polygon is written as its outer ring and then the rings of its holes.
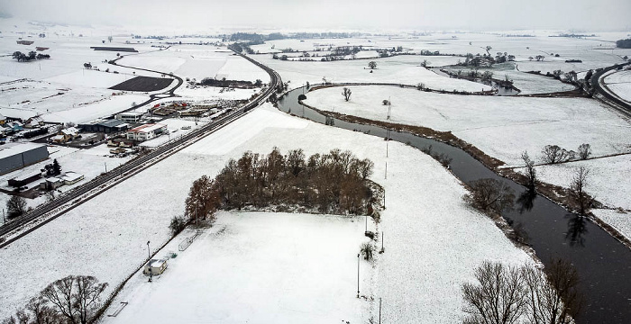
{"type": "Polygon", "coordinates": [[[91,275],[69,275],[44,288],[2,324],[87,324],[101,307],[107,283],[91,275]]]}

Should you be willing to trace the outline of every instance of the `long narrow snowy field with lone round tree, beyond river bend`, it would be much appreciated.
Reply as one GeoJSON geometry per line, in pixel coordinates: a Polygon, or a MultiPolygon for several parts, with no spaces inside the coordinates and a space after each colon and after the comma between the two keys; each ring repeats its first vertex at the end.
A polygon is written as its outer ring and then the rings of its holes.
{"type": "MultiPolygon", "coordinates": [[[[376,60],[377,68],[370,73],[367,59],[343,60],[334,62],[292,62],[271,58],[271,55],[252,55],[252,58],[279,72],[283,82],[289,83],[289,88],[297,88],[310,84],[322,83],[323,77],[327,82],[374,82],[417,85],[424,83],[432,89],[447,91],[463,90],[479,92],[490,90],[489,85],[438,76],[434,72],[421,67],[423,58],[416,56],[398,56],[394,58],[380,58],[376,60]]],[[[449,58],[450,61],[453,58],[449,58]]],[[[431,60],[431,59],[428,59],[431,60]]]]}

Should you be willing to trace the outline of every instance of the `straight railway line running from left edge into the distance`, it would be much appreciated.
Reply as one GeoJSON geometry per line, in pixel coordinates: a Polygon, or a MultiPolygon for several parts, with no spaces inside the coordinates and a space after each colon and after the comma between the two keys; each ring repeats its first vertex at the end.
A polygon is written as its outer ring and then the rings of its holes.
{"type": "Polygon", "coordinates": [[[19,216],[14,220],[7,222],[3,226],[0,226],[0,238],[7,236],[7,234],[10,237],[0,244],[0,248],[13,243],[19,238],[23,238],[33,230],[38,229],[50,220],[54,220],[64,213],[71,211],[72,209],[78,207],[78,205],[89,201],[96,195],[104,193],[115,184],[119,184],[127,178],[142,172],[142,170],[177,153],[179,150],[187,148],[198,140],[212,134],[216,130],[222,129],[224,126],[238,120],[244,114],[250,112],[253,108],[258,107],[261,103],[267,101],[270,94],[273,94],[278,85],[281,83],[279,74],[270,67],[267,67],[252,58],[248,58],[244,55],[241,56],[242,58],[249,60],[257,67],[261,67],[270,75],[270,85],[261,94],[257,95],[249,103],[245,103],[241,107],[233,110],[233,112],[229,112],[219,119],[211,121],[187,135],[181,136],[179,139],[172,139],[168,143],[151,150],[149,153],[142,155],[141,157],[134,158],[123,166],[118,166],[103,175],[99,175],[86,184],[82,184],[68,193],[59,196],[54,201],[41,204],[32,211],[28,211],[22,216],[19,216]],[[34,224],[36,220],[41,221],[34,224]],[[19,231],[19,233],[15,233],[17,231],[19,231]]]}

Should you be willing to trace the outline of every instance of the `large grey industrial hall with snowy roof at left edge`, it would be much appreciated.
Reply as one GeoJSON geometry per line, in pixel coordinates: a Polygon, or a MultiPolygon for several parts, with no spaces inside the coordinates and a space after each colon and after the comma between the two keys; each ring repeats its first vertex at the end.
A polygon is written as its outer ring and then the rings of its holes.
{"type": "Polygon", "coordinates": [[[48,158],[44,144],[9,143],[0,147],[0,175],[30,166],[48,158]]]}

